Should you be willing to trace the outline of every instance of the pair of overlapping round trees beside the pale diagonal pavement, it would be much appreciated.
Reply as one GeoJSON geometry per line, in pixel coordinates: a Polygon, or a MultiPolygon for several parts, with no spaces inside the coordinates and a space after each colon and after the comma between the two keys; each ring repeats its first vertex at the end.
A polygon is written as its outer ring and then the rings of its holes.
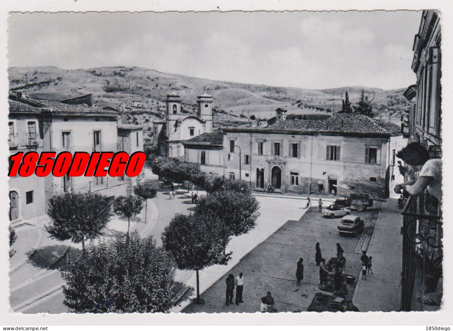
{"type": "Polygon", "coordinates": [[[206,181],[208,194],[200,197],[193,214],[174,216],[162,235],[164,248],[173,254],[178,269],[195,270],[197,298],[202,303],[198,272],[213,264],[227,264],[231,236],[256,225],[259,203],[245,181],[216,177],[206,181]]]}

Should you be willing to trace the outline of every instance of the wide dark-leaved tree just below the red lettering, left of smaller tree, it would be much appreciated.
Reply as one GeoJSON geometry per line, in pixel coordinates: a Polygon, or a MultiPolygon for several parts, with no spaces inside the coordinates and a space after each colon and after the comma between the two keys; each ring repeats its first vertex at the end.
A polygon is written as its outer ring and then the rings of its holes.
{"type": "Polygon", "coordinates": [[[99,237],[112,216],[108,197],[99,193],[67,192],[49,201],[49,225],[44,225],[50,237],[57,240],[70,239],[82,242],[85,254],[85,240],[99,237]]]}

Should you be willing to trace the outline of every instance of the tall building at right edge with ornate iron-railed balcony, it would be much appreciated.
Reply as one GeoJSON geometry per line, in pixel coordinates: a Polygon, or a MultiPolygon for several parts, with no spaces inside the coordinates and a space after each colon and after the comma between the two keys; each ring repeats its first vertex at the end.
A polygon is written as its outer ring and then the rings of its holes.
{"type": "MultiPolygon", "coordinates": [[[[439,14],[424,10],[418,34],[414,38],[412,70],[417,83],[409,86],[404,96],[410,103],[407,123],[410,141],[424,144],[430,158],[442,158],[442,111],[441,111],[441,31],[439,14]]],[[[416,179],[419,173],[407,172],[407,180],[416,179]]],[[[403,252],[401,272],[402,311],[437,310],[418,302],[424,295],[434,302],[442,300],[442,277],[434,292],[423,293],[426,270],[416,264],[417,254],[443,256],[442,251],[442,201],[428,191],[410,197],[403,213],[403,252]]],[[[438,275],[439,276],[439,275],[438,275]]]]}

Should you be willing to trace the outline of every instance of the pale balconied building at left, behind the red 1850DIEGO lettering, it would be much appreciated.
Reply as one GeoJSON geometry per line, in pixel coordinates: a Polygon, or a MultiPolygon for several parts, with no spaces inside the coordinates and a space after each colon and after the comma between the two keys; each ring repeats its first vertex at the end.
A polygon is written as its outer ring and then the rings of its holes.
{"type": "MultiPolygon", "coordinates": [[[[80,98],[79,98],[80,99],[80,98]]],[[[118,126],[121,113],[87,103],[62,103],[10,95],[10,155],[17,152],[131,152],[143,151],[137,127],[118,126]],[[121,139],[129,144],[121,145],[121,139]]],[[[121,125],[121,123],[120,123],[121,125]]],[[[125,195],[143,177],[10,177],[10,220],[26,220],[47,213],[48,201],[64,192],[99,192],[108,197],[125,195]]]]}

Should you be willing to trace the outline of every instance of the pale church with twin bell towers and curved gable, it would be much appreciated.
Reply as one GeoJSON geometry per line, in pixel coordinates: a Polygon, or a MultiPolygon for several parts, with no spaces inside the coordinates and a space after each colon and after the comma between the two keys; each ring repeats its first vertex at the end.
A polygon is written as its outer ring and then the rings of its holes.
{"type": "Polygon", "coordinates": [[[212,96],[206,92],[197,97],[197,116],[181,112],[181,96],[167,95],[165,120],[153,121],[154,144],[159,155],[184,156],[183,141],[212,132],[212,96]]]}

